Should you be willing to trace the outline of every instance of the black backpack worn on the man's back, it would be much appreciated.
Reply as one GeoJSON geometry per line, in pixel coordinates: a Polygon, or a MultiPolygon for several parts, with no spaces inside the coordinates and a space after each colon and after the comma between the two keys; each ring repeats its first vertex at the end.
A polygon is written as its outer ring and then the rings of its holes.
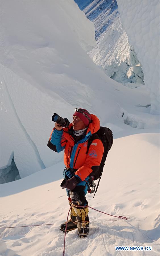
{"type": "MultiPolygon", "coordinates": [[[[103,167],[105,165],[105,160],[107,158],[108,151],[110,150],[110,148],[113,144],[112,131],[107,127],[100,126],[100,129],[96,133],[93,133],[92,136],[88,139],[86,154],[88,154],[89,147],[92,144],[92,141],[95,140],[95,139],[100,139],[102,141],[103,147],[104,147],[104,152],[103,152],[103,156],[102,156],[100,166],[99,166],[98,170],[96,170],[96,172],[93,171],[94,180],[99,179],[98,184],[97,184],[97,188],[98,188],[99,182],[101,180],[102,172],[103,172],[103,167]]],[[[97,188],[95,190],[95,193],[97,192],[97,188]]]]}

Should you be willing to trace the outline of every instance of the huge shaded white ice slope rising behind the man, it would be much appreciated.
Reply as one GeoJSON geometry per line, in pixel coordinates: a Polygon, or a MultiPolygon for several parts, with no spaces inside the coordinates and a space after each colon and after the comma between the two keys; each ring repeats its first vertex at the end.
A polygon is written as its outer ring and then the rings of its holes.
{"type": "Polygon", "coordinates": [[[13,155],[21,178],[62,161],[47,148],[54,112],[72,121],[83,107],[113,131],[159,127],[144,87],[130,92],[93,63],[95,44],[74,1],[1,1],[2,170],[13,155]]]}

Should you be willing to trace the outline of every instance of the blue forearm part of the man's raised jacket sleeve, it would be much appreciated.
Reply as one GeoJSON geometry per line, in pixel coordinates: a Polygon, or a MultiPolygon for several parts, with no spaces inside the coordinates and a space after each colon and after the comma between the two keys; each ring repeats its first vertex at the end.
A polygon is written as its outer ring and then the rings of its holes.
{"type": "Polygon", "coordinates": [[[61,146],[62,134],[63,134],[63,131],[58,131],[54,129],[50,137],[50,142],[56,146],[56,150],[58,153],[65,148],[65,146],[61,146]]]}

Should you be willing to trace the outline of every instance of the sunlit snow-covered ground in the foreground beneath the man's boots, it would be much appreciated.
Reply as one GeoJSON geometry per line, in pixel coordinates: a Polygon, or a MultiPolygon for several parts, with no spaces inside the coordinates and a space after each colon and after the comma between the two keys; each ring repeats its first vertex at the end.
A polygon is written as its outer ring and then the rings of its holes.
{"type": "MultiPolygon", "coordinates": [[[[1,229],[1,255],[63,255],[59,226],[69,207],[61,180],[53,182],[57,167],[1,185],[1,227],[53,224],[1,229]]],[[[69,232],[65,255],[159,255],[158,182],[159,133],[150,129],[115,139],[95,198],[88,194],[87,200],[93,208],[128,220],[90,209],[88,237],[69,232]],[[115,246],[152,246],[152,251],[118,252],[115,246]]]]}

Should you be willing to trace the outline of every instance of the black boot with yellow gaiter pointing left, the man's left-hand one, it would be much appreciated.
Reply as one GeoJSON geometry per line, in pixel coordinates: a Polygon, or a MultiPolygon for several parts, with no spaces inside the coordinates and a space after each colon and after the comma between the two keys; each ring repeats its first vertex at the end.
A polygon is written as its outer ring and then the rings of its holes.
{"type": "MultiPolygon", "coordinates": [[[[73,209],[73,207],[71,208],[71,213],[70,213],[70,220],[67,221],[67,232],[74,230],[77,228],[77,219],[76,219],[76,213],[73,209]]],[[[64,222],[61,227],[60,230],[62,230],[63,232],[65,232],[66,229],[66,222],[64,222]]]]}

